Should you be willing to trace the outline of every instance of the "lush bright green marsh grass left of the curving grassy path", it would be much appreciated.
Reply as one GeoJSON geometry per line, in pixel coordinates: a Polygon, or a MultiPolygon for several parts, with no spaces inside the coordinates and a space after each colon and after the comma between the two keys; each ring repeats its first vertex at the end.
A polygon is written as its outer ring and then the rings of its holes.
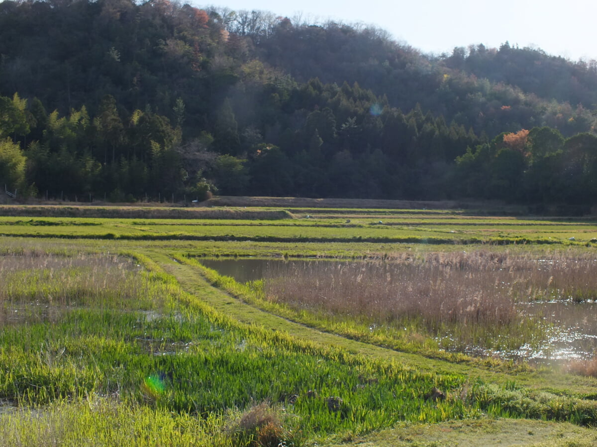
{"type": "Polygon", "coordinates": [[[64,311],[56,321],[5,327],[0,396],[19,406],[39,406],[117,395],[129,405],[198,417],[279,402],[298,415],[298,429],[306,436],[478,411],[461,401],[438,406],[422,397],[433,386],[456,388],[464,377],[420,373],[245,327],[202,313],[208,309],[163,275],[147,280],[159,278],[168,296],[150,318],[131,311],[130,303],[123,309],[119,300],[101,300],[98,306],[64,311]],[[309,397],[310,390],[317,395],[309,397]],[[297,396],[292,403],[291,396],[297,396]],[[328,409],[330,396],[341,396],[341,411],[328,409]]]}

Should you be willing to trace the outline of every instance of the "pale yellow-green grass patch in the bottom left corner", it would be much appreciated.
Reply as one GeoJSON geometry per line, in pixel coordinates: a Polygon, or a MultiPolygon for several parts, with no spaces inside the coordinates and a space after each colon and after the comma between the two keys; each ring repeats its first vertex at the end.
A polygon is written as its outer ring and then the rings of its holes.
{"type": "Polygon", "coordinates": [[[231,445],[221,430],[226,415],[202,419],[150,405],[90,396],[0,415],[2,446],[213,446],[231,445]]]}

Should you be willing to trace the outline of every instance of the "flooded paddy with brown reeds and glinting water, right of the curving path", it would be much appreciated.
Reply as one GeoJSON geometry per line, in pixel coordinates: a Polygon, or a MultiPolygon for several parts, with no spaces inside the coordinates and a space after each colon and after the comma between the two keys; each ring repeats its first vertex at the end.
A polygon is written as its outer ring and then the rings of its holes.
{"type": "MultiPolygon", "coordinates": [[[[304,308],[320,306],[319,309],[325,308],[338,313],[350,306],[350,295],[354,294],[353,313],[357,309],[365,309],[370,312],[371,318],[380,321],[379,325],[382,327],[391,325],[398,319],[395,315],[384,313],[389,309],[394,309],[396,314],[410,312],[415,315],[420,312],[420,308],[429,306],[442,307],[444,313],[454,311],[448,306],[460,306],[454,312],[458,315],[450,320],[455,325],[470,325],[473,322],[507,328],[508,325],[516,327],[522,322],[534,321],[543,331],[540,340],[536,333],[527,334],[532,342],[518,346],[507,346],[505,343],[501,347],[466,342],[450,344],[452,333],[438,334],[437,340],[447,350],[547,363],[592,359],[597,353],[597,302],[594,299],[593,280],[587,279],[594,273],[595,262],[590,259],[537,262],[530,259],[491,258],[479,261],[472,257],[446,257],[427,259],[426,266],[404,262],[254,258],[201,259],[201,263],[240,283],[265,279],[264,289],[268,299],[277,294],[275,300],[290,303],[295,308],[303,306],[298,303],[298,300],[302,300],[308,302],[304,308]],[[346,272],[338,274],[340,271],[346,272]],[[350,282],[351,276],[354,283],[350,282]],[[268,283],[284,285],[272,288],[268,287],[268,283]],[[322,283],[333,285],[322,288],[322,283]],[[361,287],[363,283],[365,287],[361,287]],[[385,284],[382,287],[380,283],[385,284]],[[387,283],[394,284],[388,287],[387,283]],[[334,297],[332,288],[339,291],[339,297],[334,297]],[[406,293],[405,289],[411,294],[406,293]],[[318,294],[325,297],[324,301],[327,303],[307,298],[306,290],[311,291],[310,296],[318,294]],[[396,297],[403,301],[413,301],[413,296],[417,294],[422,297],[417,299],[417,303],[402,308],[396,306],[396,297]],[[434,300],[432,295],[437,298],[434,300]],[[501,296],[501,302],[496,301],[497,296],[501,296]],[[472,298],[467,301],[467,297],[472,298]],[[485,308],[484,300],[493,301],[491,306],[494,307],[485,308]],[[333,307],[334,301],[339,301],[336,309],[333,307]],[[510,306],[512,307],[509,308],[510,306]],[[503,309],[504,307],[509,309],[503,309]],[[470,315],[467,315],[467,311],[470,315]],[[484,312],[494,313],[498,317],[491,320],[491,315],[485,316],[484,312]],[[473,321],[474,318],[477,320],[473,321]]],[[[433,318],[438,317],[432,316],[431,319],[433,318]]],[[[438,324],[437,327],[439,326],[441,325],[438,324]]],[[[498,334],[497,337],[504,335],[498,334]]]]}

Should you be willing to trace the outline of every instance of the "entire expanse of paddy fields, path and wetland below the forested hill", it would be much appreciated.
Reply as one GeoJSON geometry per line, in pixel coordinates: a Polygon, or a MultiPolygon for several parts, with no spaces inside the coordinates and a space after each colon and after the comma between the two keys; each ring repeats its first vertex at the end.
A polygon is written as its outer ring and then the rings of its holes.
{"type": "Polygon", "coordinates": [[[0,445],[597,443],[593,219],[2,212],[0,445]]]}

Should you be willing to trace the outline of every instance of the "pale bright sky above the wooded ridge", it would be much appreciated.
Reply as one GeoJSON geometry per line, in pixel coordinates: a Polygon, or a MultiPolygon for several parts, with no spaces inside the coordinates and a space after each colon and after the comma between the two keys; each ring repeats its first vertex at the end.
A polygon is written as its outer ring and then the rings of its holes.
{"type": "Polygon", "coordinates": [[[231,10],[263,10],[309,21],[374,24],[425,53],[484,44],[541,48],[570,60],[597,60],[597,2],[592,0],[212,0],[231,10]]]}

